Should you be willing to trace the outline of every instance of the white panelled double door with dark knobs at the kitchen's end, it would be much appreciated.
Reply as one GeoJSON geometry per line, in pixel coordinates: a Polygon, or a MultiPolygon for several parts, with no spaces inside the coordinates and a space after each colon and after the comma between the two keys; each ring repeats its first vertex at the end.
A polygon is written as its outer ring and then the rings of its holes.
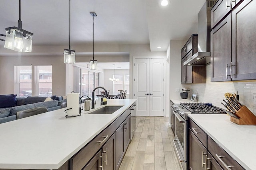
{"type": "Polygon", "coordinates": [[[164,59],[134,59],[136,116],[164,116],[164,59]]]}

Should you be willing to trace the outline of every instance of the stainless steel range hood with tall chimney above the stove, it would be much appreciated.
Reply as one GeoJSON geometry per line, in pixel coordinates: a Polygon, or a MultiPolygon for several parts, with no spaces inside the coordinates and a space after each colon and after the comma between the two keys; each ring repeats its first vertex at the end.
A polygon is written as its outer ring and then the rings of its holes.
{"type": "Polygon", "coordinates": [[[211,29],[211,8],[215,0],[207,0],[198,13],[198,53],[195,53],[184,66],[206,65],[210,63],[210,29],[211,29]]]}

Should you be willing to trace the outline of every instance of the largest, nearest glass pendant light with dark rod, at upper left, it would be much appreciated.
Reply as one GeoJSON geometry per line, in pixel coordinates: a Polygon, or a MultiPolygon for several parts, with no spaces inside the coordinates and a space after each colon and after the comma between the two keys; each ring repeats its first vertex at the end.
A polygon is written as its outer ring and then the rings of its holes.
{"type": "MultiPolygon", "coordinates": [[[[20,0],[19,0],[20,10],[20,0]]],[[[20,12],[19,12],[20,15],[20,12]]],[[[32,51],[32,36],[31,32],[22,29],[22,21],[19,18],[18,27],[8,27],[6,30],[6,38],[4,48],[26,53],[32,51]]]]}

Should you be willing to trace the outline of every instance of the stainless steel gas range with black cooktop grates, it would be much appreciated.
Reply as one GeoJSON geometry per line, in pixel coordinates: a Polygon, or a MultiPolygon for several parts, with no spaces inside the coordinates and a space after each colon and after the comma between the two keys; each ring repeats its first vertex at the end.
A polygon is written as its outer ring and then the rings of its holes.
{"type": "MultiPolygon", "coordinates": [[[[171,105],[172,106],[172,105],[171,105]]],[[[226,112],[208,103],[180,103],[172,106],[174,114],[173,140],[176,152],[184,170],[187,169],[187,127],[188,114],[226,114],[226,112]]],[[[171,115],[172,115],[171,114],[171,115]]],[[[172,119],[171,119],[172,120],[172,119]]]]}

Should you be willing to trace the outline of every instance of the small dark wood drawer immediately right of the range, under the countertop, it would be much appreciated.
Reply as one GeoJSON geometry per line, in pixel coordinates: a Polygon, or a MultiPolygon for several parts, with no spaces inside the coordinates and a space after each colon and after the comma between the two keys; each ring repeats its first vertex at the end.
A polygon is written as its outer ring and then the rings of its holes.
{"type": "Polygon", "coordinates": [[[200,142],[204,145],[204,147],[206,147],[207,146],[206,133],[204,133],[204,131],[198,125],[196,125],[196,123],[194,123],[194,121],[192,121],[191,119],[189,119],[189,128],[196,135],[196,137],[200,140],[200,142]]]}

